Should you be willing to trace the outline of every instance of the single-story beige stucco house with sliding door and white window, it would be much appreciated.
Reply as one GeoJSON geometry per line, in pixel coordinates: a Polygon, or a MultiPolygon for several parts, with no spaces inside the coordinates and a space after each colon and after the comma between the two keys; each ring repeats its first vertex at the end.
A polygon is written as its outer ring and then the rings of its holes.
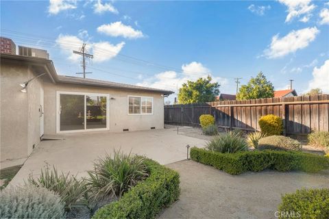
{"type": "Polygon", "coordinates": [[[169,90],[57,75],[40,57],[0,57],[1,162],[25,160],[44,134],[164,127],[169,90]]]}

